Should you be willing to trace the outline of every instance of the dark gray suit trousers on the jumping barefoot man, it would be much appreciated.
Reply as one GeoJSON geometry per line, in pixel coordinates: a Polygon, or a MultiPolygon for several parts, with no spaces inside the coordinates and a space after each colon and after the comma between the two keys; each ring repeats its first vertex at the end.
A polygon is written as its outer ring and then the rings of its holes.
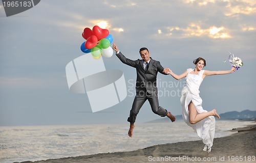
{"type": "Polygon", "coordinates": [[[157,93],[148,94],[147,92],[141,91],[137,93],[134,98],[133,106],[130,111],[130,117],[127,119],[128,122],[130,122],[131,124],[135,123],[137,114],[139,113],[140,108],[142,107],[146,100],[150,102],[153,113],[161,117],[165,117],[167,115],[167,110],[159,106],[157,93]]]}

